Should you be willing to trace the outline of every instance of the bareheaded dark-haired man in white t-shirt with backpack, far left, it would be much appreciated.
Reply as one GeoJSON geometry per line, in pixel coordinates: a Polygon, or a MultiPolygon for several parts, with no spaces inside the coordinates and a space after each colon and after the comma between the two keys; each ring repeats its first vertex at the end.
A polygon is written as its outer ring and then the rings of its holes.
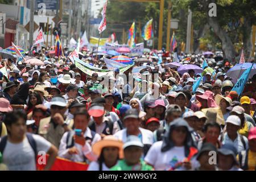
{"type": "Polygon", "coordinates": [[[11,171],[35,171],[36,156],[39,151],[44,151],[49,154],[44,170],[49,170],[57,156],[57,148],[39,135],[26,133],[26,121],[24,111],[15,110],[6,114],[4,122],[9,135],[0,141],[3,163],[11,171]]]}

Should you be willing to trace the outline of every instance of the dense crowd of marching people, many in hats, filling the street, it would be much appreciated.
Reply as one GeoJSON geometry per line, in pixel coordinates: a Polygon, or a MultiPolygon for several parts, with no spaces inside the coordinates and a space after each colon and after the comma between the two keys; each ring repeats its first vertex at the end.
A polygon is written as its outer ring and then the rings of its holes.
{"type": "MultiPolygon", "coordinates": [[[[167,66],[170,53],[156,53],[162,63],[145,53],[146,63],[104,78],[45,50],[33,55],[40,66],[0,57],[8,74],[0,72],[0,169],[36,170],[43,151],[45,170],[57,156],[89,164],[89,171],[255,170],[256,75],[238,95],[226,76],[234,60],[187,55],[180,64],[206,60],[214,70],[193,92],[203,73],[179,73],[167,66]]],[[[100,55],[80,59],[106,69],[100,55]]]]}

